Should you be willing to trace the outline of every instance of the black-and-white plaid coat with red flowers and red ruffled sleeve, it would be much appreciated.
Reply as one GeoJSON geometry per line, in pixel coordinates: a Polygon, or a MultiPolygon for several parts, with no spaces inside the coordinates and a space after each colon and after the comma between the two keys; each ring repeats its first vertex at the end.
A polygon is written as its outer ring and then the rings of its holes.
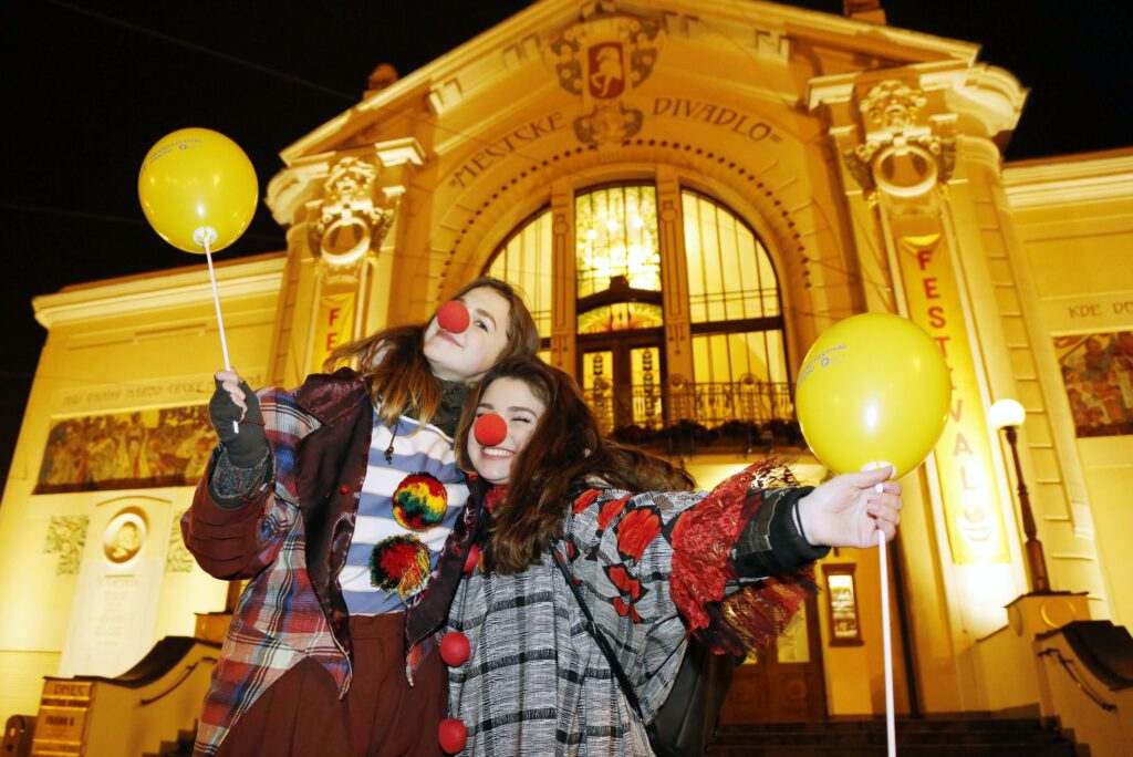
{"type": "MultiPolygon", "coordinates": [[[[826,553],[792,529],[793,503],[808,491],[785,468],[761,463],[712,493],[593,488],[577,497],[555,548],[647,720],[668,696],[690,628],[735,652],[731,631],[716,628],[723,615],[749,645],[766,644],[798,611],[809,581],[790,575],[826,553]],[[735,602],[719,613],[729,595],[735,602]]],[[[550,554],[517,575],[472,571],[449,628],[471,647],[449,674],[450,714],[468,726],[462,755],[650,754],[550,554]]]]}

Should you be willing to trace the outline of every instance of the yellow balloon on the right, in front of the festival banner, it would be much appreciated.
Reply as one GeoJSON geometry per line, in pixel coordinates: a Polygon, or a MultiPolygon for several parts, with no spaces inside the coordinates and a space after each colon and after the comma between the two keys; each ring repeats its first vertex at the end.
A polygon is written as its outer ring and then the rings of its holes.
{"type": "Polygon", "coordinates": [[[951,401],[940,346],[900,315],[863,313],[810,348],[794,405],[807,444],[827,468],[851,473],[884,461],[900,477],[936,446],[951,401]]]}

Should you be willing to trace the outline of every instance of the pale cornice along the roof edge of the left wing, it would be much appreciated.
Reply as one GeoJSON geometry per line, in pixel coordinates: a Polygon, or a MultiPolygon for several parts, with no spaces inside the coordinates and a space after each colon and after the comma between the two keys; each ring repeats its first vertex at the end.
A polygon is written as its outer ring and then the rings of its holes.
{"type": "MultiPolygon", "coordinates": [[[[218,265],[221,300],[278,294],[287,256],[282,253],[218,265]]],[[[49,331],[92,318],[118,317],[156,309],[212,306],[212,284],[204,264],[159,274],[95,282],[32,299],[35,320],[49,331]]]]}

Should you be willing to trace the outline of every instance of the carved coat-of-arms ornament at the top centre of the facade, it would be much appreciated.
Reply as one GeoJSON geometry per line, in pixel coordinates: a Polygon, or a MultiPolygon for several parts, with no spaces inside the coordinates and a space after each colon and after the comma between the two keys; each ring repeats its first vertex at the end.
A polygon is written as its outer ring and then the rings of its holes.
{"type": "Polygon", "coordinates": [[[582,99],[573,122],[580,142],[611,144],[641,130],[645,114],[625,96],[649,78],[664,37],[659,23],[596,2],[547,44],[559,86],[582,99]]]}

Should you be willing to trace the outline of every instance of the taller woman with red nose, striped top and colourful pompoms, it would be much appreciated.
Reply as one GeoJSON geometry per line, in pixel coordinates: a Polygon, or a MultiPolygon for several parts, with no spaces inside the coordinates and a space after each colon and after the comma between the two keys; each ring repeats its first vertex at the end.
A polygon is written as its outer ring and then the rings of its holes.
{"type": "Polygon", "coordinates": [[[181,528],[202,568],[249,582],[195,755],[440,754],[431,652],[476,513],[453,434],[468,386],[537,347],[516,291],[480,279],[293,392],[216,374],[221,443],[181,528]]]}

